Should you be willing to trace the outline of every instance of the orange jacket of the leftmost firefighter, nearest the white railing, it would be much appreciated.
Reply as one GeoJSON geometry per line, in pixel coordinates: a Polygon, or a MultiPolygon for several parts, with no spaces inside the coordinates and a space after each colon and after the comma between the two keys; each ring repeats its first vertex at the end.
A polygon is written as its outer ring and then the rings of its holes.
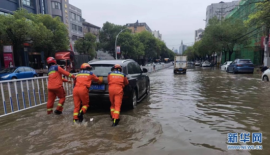
{"type": "Polygon", "coordinates": [[[63,78],[62,75],[75,78],[74,75],[68,73],[60,66],[51,66],[48,71],[48,89],[60,88],[63,85],[63,82],[67,82],[68,80],[63,78]]]}

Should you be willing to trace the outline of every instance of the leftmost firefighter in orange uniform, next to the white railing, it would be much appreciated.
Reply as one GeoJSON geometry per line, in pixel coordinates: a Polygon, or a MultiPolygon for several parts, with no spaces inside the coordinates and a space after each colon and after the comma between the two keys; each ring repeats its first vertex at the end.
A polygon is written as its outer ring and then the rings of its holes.
{"type": "Polygon", "coordinates": [[[56,65],[56,60],[54,59],[54,57],[48,57],[47,63],[50,67],[48,71],[49,78],[48,78],[47,113],[48,114],[53,113],[54,101],[57,96],[59,98],[59,102],[54,112],[56,114],[61,114],[66,99],[66,92],[63,87],[63,82],[69,82],[70,84],[72,83],[72,81],[63,78],[62,75],[69,78],[75,78],[75,76],[68,73],[60,66],[56,65]]]}

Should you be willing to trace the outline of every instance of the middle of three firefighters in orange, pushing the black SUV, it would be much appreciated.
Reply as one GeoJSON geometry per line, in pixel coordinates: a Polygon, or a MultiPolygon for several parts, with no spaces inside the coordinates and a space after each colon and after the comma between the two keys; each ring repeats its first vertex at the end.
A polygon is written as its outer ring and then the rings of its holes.
{"type": "Polygon", "coordinates": [[[87,108],[89,107],[89,88],[92,80],[101,84],[102,79],[94,75],[90,70],[92,67],[88,63],[83,63],[81,65],[81,71],[76,75],[74,80],[73,89],[73,100],[74,100],[74,112],[73,112],[73,122],[82,122],[83,114],[85,114],[87,108]],[[82,107],[81,107],[82,104],[82,107]],[[80,110],[81,108],[81,110],[80,110]]]}

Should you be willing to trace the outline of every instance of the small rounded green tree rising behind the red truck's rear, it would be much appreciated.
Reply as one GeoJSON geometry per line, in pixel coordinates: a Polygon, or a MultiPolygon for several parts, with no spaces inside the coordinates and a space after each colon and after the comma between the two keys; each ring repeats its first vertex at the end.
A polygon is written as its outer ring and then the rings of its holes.
{"type": "Polygon", "coordinates": [[[94,58],[96,56],[96,40],[97,37],[88,32],[85,34],[84,38],[80,38],[77,41],[75,41],[74,47],[76,48],[77,52],[83,53],[83,54],[89,54],[91,58],[94,58]]]}

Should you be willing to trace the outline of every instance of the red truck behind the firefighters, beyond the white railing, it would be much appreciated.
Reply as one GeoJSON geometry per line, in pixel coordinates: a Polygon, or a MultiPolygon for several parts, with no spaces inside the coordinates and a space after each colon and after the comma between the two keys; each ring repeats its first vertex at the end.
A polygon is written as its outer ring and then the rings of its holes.
{"type": "Polygon", "coordinates": [[[81,64],[91,60],[89,55],[74,54],[73,51],[57,51],[54,58],[56,63],[69,73],[79,72],[81,64]]]}

